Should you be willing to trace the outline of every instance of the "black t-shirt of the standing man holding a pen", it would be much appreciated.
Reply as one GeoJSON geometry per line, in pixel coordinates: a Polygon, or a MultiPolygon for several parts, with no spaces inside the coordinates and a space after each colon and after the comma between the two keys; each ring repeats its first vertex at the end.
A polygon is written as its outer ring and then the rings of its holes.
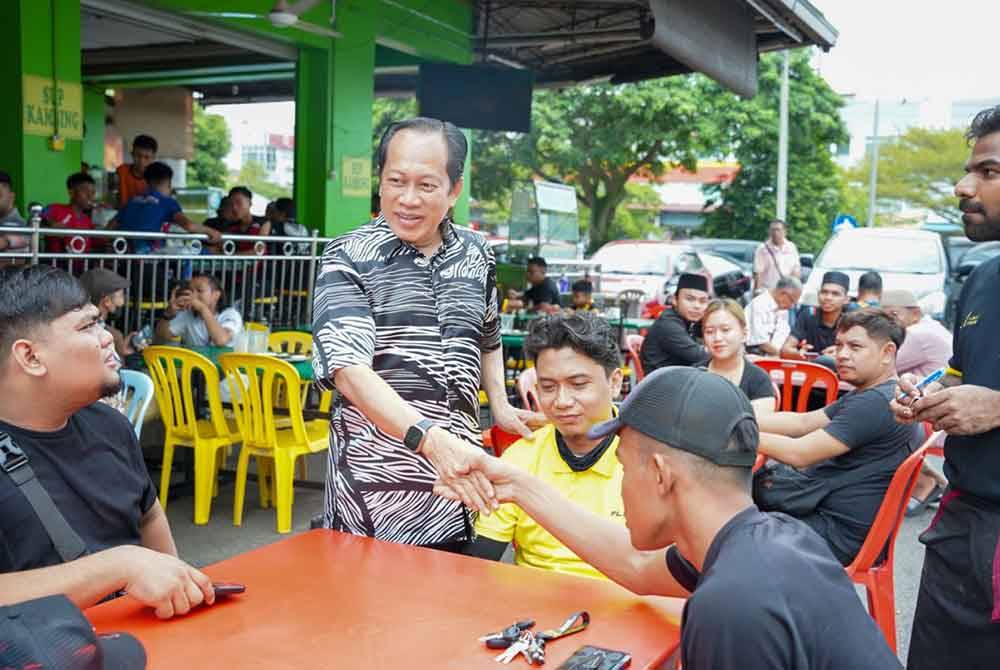
{"type": "MultiPolygon", "coordinates": [[[[949,365],[963,384],[1000,390],[1000,257],[977,267],[962,287],[949,365]]],[[[1000,428],[979,435],[949,435],[944,474],[956,489],[1000,504],[1000,428]]]]}

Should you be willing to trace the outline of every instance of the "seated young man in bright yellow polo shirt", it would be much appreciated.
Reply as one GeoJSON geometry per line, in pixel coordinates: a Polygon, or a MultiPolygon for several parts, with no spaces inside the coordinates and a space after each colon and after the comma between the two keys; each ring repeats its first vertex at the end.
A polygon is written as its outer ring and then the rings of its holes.
{"type": "MultiPolygon", "coordinates": [[[[608,322],[592,313],[555,314],[532,322],[524,342],[535,361],[538,400],[551,422],[511,445],[503,460],[531,472],[586,509],[625,523],[617,435],[592,440],[587,430],[612,416],[621,389],[618,344],[608,322]]],[[[517,505],[476,522],[472,556],[499,560],[513,542],[515,561],[545,570],[603,578],[517,505]]]]}

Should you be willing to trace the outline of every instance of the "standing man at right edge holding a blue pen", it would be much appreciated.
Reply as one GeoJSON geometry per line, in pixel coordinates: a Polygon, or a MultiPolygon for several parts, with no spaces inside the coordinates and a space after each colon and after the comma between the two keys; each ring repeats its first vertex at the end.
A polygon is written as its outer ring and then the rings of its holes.
{"type": "MultiPolygon", "coordinates": [[[[956,184],[965,234],[1000,240],[1000,106],[976,115],[966,175],[956,184]]],[[[947,374],[923,391],[906,375],[897,419],[948,433],[949,488],[920,536],[927,551],[907,667],[993,668],[1000,658],[1000,257],[962,287],[947,374]]]]}

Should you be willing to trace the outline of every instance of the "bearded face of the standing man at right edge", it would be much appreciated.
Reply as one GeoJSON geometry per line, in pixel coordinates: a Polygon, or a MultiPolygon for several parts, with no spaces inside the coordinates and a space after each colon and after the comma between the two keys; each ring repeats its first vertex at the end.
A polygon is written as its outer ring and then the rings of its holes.
{"type": "Polygon", "coordinates": [[[979,138],[955,185],[966,236],[974,242],[1000,240],[1000,133],[979,138]]]}

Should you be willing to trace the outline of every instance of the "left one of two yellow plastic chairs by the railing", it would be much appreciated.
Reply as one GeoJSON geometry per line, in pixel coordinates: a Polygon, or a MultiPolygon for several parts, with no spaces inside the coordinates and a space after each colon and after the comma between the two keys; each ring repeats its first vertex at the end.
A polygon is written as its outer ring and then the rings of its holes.
{"type": "Polygon", "coordinates": [[[227,419],[219,396],[219,370],[208,358],[180,347],[152,346],[142,357],[153,378],[165,437],[160,504],[167,506],[175,447],[194,449],[194,522],[208,523],[224,449],[240,442],[239,428],[227,419]],[[200,372],[208,401],[208,419],[199,419],[194,401],[194,373],[200,372]]]}

